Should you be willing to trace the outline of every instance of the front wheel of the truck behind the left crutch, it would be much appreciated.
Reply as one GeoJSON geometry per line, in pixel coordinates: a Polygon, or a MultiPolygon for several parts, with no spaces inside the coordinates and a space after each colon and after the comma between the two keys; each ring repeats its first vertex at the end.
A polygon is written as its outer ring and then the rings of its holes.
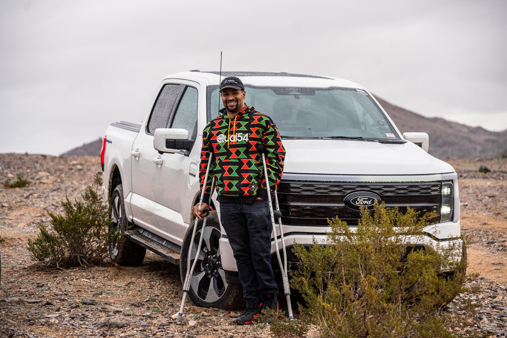
{"type": "MultiPolygon", "coordinates": [[[[220,260],[219,239],[221,237],[220,223],[216,211],[209,213],[204,230],[204,238],[201,245],[201,255],[198,256],[197,265],[192,274],[190,292],[188,297],[193,305],[201,308],[219,308],[223,310],[239,310],[245,306],[243,290],[240,286],[229,285],[225,280],[224,269],[217,262],[220,260]],[[213,257],[215,255],[215,257],[213,257]],[[210,256],[210,259],[207,257],[210,256]],[[212,264],[211,264],[212,262],[212,264]],[[208,264],[208,267],[206,267],[208,264]],[[212,268],[210,269],[210,267],[212,268]],[[216,272],[214,272],[216,271],[216,272]]],[[[192,231],[197,221],[197,230],[192,244],[192,256],[190,263],[194,263],[202,229],[202,219],[196,219],[187,230],[183,240],[183,247],[179,263],[179,271],[182,284],[185,282],[187,273],[187,257],[192,239],[192,231]]]]}

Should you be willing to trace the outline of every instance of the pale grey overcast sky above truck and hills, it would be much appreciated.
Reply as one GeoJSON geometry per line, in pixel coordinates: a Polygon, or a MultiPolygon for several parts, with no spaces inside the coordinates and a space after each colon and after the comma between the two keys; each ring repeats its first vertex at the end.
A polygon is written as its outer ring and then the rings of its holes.
{"type": "MultiPolygon", "coordinates": [[[[58,155],[140,121],[166,74],[358,82],[427,117],[507,129],[507,1],[0,1],[0,153],[58,155]]],[[[414,126],[417,131],[417,126],[414,126]]]]}

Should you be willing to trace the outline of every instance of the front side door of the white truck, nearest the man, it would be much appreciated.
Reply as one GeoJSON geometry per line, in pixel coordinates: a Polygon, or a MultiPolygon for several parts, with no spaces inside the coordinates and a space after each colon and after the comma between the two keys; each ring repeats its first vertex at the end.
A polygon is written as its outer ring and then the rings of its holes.
{"type": "MultiPolygon", "coordinates": [[[[167,128],[182,128],[189,132],[189,139],[197,138],[197,116],[199,114],[199,84],[179,80],[185,89],[174,105],[167,128]]],[[[200,143],[200,141],[198,142],[200,143]]],[[[164,233],[163,237],[181,245],[189,226],[190,187],[198,175],[201,144],[195,144],[191,152],[180,151],[175,154],[162,154],[164,164],[155,168],[155,210],[154,224],[164,233]],[[193,169],[195,173],[193,172],[193,169]],[[194,175],[192,175],[194,174],[194,175]]],[[[198,182],[197,182],[198,184],[198,182]]],[[[195,192],[193,192],[195,193],[195,192]]]]}

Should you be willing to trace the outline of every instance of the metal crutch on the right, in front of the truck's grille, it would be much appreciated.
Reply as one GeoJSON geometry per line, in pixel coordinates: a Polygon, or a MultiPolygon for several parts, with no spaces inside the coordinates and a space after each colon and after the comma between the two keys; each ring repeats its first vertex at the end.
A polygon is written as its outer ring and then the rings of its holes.
{"type": "Polygon", "coordinates": [[[273,236],[275,239],[276,257],[278,258],[278,264],[280,265],[280,270],[282,273],[283,292],[285,294],[285,297],[287,298],[288,318],[290,320],[293,320],[294,316],[292,314],[292,306],[291,306],[291,289],[288,286],[288,275],[287,275],[287,251],[285,250],[285,239],[283,238],[283,229],[282,229],[282,220],[281,220],[282,213],[280,212],[280,207],[278,205],[278,196],[276,195],[276,186],[275,186],[276,210],[273,211],[273,202],[271,201],[271,191],[269,188],[268,169],[266,167],[266,156],[264,154],[264,146],[261,143],[258,143],[257,150],[261,153],[262,164],[264,165],[264,177],[266,179],[266,190],[268,191],[269,213],[271,215],[271,223],[273,224],[273,233],[274,233],[273,236]],[[277,235],[276,235],[275,217],[278,218],[278,227],[280,229],[280,239],[282,242],[284,264],[282,264],[282,260],[280,258],[280,250],[278,249],[278,239],[277,239],[277,235]]]}

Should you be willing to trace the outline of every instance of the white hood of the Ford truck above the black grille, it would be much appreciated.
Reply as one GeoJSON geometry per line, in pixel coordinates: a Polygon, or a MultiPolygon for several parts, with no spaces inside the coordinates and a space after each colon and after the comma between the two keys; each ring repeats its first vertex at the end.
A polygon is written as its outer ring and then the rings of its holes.
{"type": "Polygon", "coordinates": [[[346,175],[423,175],[454,172],[412,142],[282,139],[284,172],[346,175]]]}

